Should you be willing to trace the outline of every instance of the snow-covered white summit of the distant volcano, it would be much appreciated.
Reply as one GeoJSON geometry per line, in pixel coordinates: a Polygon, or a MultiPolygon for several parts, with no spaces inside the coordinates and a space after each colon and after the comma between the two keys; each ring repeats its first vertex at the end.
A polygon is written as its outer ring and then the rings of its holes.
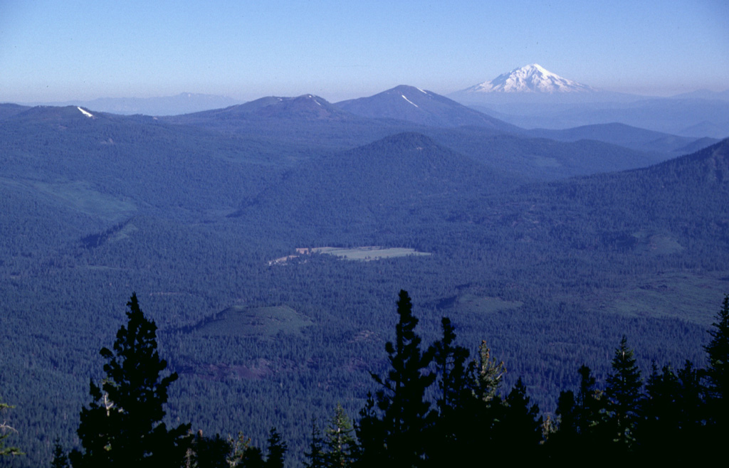
{"type": "Polygon", "coordinates": [[[562,93],[595,92],[593,87],[573,82],[539,66],[537,63],[515,68],[509,73],[496,76],[490,82],[469,87],[464,92],[527,92],[562,93]]]}

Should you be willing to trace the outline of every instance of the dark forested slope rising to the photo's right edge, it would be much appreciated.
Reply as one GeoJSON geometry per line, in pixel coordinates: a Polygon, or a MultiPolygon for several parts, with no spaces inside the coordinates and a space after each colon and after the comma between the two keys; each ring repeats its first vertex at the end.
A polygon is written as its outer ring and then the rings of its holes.
{"type": "MultiPolygon", "coordinates": [[[[637,231],[644,228],[671,233],[685,247],[721,243],[728,239],[729,227],[729,207],[725,203],[729,199],[728,153],[729,140],[722,140],[652,167],[554,183],[534,189],[530,196],[534,201],[541,200],[545,209],[548,203],[582,213],[585,221],[595,223],[596,229],[605,229],[606,233],[630,234],[623,247],[636,248],[631,242],[640,244],[642,235],[637,231]]],[[[556,226],[553,217],[539,215],[539,207],[534,213],[540,223],[550,223],[552,218],[556,226]]],[[[585,232],[587,226],[574,226],[574,230],[585,232]]],[[[699,252],[696,254],[696,258],[703,258],[699,252]]],[[[717,263],[717,267],[720,265],[717,263]]]]}

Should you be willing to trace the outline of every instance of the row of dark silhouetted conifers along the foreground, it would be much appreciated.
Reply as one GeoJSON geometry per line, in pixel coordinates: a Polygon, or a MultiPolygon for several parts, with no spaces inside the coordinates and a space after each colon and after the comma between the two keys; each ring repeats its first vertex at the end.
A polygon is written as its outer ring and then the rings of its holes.
{"type": "MultiPolygon", "coordinates": [[[[106,376],[101,386],[90,383],[91,402],[80,413],[82,448],[66,453],[55,443],[51,466],[284,467],[287,444],[276,427],[265,451],[242,432],[226,439],[193,434],[189,423],[167,427],[168,387],[178,375],[165,371],[157,327],[136,294],[127,306],[113,351],[100,352],[106,376]]],[[[707,368],[686,360],[659,370],[653,362],[644,378],[623,336],[605,386],[582,365],[579,386],[562,391],[546,417],[521,378],[502,388],[504,362],[491,357],[486,342],[472,359],[443,317],[442,336],[426,346],[404,290],[397,317],[394,341],[385,345],[389,369],[372,373],[377,390],[354,423],[340,405],[327,421],[311,420],[306,467],[471,466],[483,463],[484,451],[495,463],[577,465],[595,453],[622,463],[696,462],[713,458],[729,429],[729,296],[709,332],[707,368]]],[[[23,455],[0,448],[1,456],[23,455]]]]}

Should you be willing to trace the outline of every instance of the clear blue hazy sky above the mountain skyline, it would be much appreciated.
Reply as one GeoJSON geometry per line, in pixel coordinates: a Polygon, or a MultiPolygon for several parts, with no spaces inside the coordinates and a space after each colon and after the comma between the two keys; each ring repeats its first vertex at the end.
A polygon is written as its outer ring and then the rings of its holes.
{"type": "Polygon", "coordinates": [[[529,63],[622,92],[729,88],[729,1],[0,0],[0,102],[448,94],[529,63]]]}

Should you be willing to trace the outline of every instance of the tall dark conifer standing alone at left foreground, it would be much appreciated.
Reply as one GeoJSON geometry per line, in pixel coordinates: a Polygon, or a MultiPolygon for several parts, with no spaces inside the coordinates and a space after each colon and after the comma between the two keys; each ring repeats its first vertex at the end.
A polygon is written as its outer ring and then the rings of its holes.
{"type": "Polygon", "coordinates": [[[144,317],[136,294],[127,306],[114,349],[102,348],[106,378],[90,384],[93,402],[81,410],[78,435],[84,451],[73,451],[74,468],[179,467],[189,424],[167,429],[163,405],[172,373],[160,378],[167,362],[157,353],[157,325],[144,317]]]}

